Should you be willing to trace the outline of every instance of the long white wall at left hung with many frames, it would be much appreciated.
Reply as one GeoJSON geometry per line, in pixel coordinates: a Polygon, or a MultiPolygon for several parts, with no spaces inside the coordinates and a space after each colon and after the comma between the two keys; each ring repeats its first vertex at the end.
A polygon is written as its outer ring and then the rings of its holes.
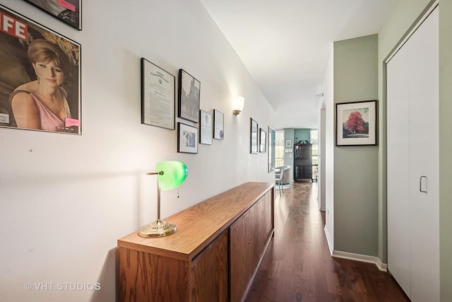
{"type": "Polygon", "coordinates": [[[155,219],[145,173],[158,161],[189,168],[180,198],[163,192],[162,217],[242,182],[273,182],[268,154],[249,154],[249,119],[266,129],[275,112],[198,0],[83,1],[80,32],[25,1],[0,4],[81,43],[83,131],[0,129],[0,301],[115,301],[117,239],[155,219]],[[177,153],[177,131],[141,124],[141,57],[201,81],[201,109],[225,114],[225,140],[177,153]],[[246,98],[238,117],[233,95],[246,98]]]}

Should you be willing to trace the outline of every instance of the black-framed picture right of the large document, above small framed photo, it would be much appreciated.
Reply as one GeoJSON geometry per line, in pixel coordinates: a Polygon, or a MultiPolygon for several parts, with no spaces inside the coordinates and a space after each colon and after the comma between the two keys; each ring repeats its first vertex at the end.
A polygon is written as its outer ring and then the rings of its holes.
{"type": "Polygon", "coordinates": [[[179,114],[191,122],[199,122],[199,98],[201,82],[184,69],[179,69],[179,114]]]}

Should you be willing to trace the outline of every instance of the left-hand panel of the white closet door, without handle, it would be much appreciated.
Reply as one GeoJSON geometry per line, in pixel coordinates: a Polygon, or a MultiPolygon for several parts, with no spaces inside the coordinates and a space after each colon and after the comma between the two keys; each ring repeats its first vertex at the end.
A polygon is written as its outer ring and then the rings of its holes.
{"type": "Polygon", "coordinates": [[[401,48],[387,65],[388,270],[410,292],[409,58],[401,48]]]}

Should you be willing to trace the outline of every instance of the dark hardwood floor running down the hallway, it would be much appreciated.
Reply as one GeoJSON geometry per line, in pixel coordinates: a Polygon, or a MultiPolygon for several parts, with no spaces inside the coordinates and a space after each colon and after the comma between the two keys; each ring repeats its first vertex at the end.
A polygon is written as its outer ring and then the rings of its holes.
{"type": "Polygon", "coordinates": [[[245,301],[410,301],[376,265],[331,257],[316,191],[311,182],[275,191],[275,237],[245,301]]]}

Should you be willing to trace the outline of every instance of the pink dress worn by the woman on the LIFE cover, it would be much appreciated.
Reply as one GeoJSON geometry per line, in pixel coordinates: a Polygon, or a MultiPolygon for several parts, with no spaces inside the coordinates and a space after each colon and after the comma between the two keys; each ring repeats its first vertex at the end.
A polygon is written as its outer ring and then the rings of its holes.
{"type": "MultiPolygon", "coordinates": [[[[33,100],[35,100],[37,110],[40,112],[40,129],[46,131],[64,131],[64,121],[61,121],[54,112],[50,111],[49,108],[44,105],[35,95],[30,93],[29,91],[14,91],[11,94],[10,100],[13,100],[14,95],[17,93],[28,93],[33,100]]],[[[66,117],[71,117],[71,111],[69,110],[69,104],[64,96],[64,93],[61,93],[63,96],[64,110],[66,112],[66,117]]]]}

